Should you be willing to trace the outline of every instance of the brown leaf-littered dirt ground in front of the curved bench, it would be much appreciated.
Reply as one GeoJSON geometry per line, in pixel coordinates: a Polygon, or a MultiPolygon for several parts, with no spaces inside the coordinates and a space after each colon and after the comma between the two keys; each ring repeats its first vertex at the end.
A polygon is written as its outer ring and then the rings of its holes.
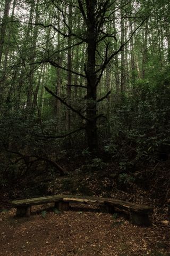
{"type": "Polygon", "coordinates": [[[97,211],[55,213],[35,206],[30,218],[16,218],[15,209],[0,213],[0,255],[3,256],[169,256],[169,222],[149,227],[97,211]]]}

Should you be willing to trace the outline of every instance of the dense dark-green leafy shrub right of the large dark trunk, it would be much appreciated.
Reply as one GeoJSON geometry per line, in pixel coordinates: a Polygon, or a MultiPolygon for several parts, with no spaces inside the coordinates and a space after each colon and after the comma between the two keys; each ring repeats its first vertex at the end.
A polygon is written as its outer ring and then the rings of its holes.
{"type": "Polygon", "coordinates": [[[164,161],[170,142],[169,79],[152,86],[138,81],[136,94],[115,102],[111,117],[112,138],[105,151],[118,163],[121,182],[133,182],[131,175],[141,163],[164,161]]]}

